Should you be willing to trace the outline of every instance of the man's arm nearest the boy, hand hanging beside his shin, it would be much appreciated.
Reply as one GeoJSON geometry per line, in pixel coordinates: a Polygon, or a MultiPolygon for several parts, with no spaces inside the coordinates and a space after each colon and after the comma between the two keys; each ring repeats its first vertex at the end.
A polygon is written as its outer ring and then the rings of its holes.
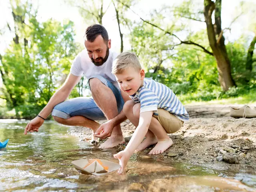
{"type": "MultiPolygon", "coordinates": [[[[124,99],[124,102],[131,100],[131,98],[121,90],[122,98],[124,99]]],[[[102,124],[98,130],[95,132],[95,136],[100,139],[105,139],[107,137],[111,136],[112,130],[115,126],[119,125],[120,123],[124,122],[126,120],[126,116],[123,112],[123,110],[113,119],[110,119],[109,121],[102,124]],[[102,132],[104,131],[104,132],[102,132]],[[100,134],[102,133],[102,134],[100,134]]]]}

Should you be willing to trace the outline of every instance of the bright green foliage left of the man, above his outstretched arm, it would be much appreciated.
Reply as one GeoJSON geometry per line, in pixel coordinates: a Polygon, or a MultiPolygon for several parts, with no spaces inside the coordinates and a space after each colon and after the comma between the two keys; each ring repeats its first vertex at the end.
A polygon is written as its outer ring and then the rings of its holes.
{"type": "MultiPolygon", "coordinates": [[[[39,22],[36,11],[28,13],[28,8],[28,4],[17,4],[14,9],[16,17],[24,15],[27,22],[14,17],[19,41],[14,40],[5,51],[0,71],[4,83],[1,97],[6,98],[8,109],[15,108],[17,117],[32,118],[63,84],[81,48],[74,42],[73,22],[39,22]]],[[[77,92],[74,89],[71,96],[77,92]]]]}

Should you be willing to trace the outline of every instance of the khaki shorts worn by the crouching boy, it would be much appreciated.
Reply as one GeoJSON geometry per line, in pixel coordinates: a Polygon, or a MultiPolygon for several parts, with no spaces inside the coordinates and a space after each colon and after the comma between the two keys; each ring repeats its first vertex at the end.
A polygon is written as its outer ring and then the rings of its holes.
{"type": "Polygon", "coordinates": [[[179,120],[176,116],[164,109],[158,108],[157,111],[158,116],[153,115],[153,117],[155,117],[160,122],[160,124],[166,130],[166,133],[175,133],[176,131],[180,130],[184,123],[182,120],[179,120]]]}

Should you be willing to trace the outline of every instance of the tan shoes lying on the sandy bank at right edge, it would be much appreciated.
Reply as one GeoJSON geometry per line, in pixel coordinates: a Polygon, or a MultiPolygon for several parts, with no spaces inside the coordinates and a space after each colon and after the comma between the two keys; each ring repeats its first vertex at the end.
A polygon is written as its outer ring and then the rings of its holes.
{"type": "Polygon", "coordinates": [[[230,116],[234,118],[254,118],[256,117],[256,108],[250,108],[244,105],[242,108],[231,107],[230,116]]]}

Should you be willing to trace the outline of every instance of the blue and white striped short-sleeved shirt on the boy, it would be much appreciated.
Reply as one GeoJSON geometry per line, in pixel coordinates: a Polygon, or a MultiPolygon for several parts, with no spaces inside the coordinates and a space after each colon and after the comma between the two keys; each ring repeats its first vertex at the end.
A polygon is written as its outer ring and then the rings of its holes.
{"type": "Polygon", "coordinates": [[[140,113],[153,111],[154,115],[158,115],[157,109],[162,108],[184,122],[189,120],[188,112],[174,92],[150,78],[144,78],[143,86],[130,98],[140,103],[140,113]]]}

